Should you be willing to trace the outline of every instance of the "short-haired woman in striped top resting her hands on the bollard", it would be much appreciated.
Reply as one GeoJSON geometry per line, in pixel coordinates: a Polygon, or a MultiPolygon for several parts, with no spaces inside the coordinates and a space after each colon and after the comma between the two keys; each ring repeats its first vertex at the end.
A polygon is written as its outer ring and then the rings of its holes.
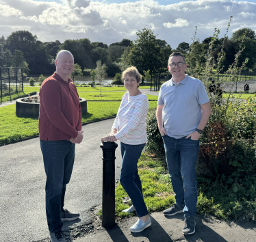
{"type": "Polygon", "coordinates": [[[137,167],[140,154],[146,144],[146,114],[149,110],[146,94],[138,89],[141,79],[142,76],[136,67],[132,66],[123,72],[123,82],[128,92],[123,95],[111,133],[101,139],[102,142],[120,140],[123,158],[120,183],[133,204],[123,212],[136,211],[139,217],[136,224],[131,226],[131,232],[140,232],[151,226],[137,167]]]}

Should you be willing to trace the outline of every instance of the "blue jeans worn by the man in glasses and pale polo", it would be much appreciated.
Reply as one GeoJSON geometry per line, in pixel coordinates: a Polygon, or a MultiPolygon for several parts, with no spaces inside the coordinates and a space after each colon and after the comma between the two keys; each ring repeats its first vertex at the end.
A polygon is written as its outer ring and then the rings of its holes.
{"type": "Polygon", "coordinates": [[[170,174],[176,204],[185,206],[185,216],[196,215],[197,182],[196,159],[199,153],[199,140],[163,136],[166,161],[170,174]]]}

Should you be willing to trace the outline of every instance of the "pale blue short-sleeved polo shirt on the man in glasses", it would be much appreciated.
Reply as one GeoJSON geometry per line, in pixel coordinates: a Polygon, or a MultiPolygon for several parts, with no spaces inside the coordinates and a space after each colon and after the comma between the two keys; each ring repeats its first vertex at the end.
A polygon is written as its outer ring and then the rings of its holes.
{"type": "Polygon", "coordinates": [[[201,106],[209,102],[202,81],[186,77],[178,84],[172,79],[161,86],[158,105],[164,105],[164,129],[170,137],[180,139],[196,131],[201,120],[201,106]]]}

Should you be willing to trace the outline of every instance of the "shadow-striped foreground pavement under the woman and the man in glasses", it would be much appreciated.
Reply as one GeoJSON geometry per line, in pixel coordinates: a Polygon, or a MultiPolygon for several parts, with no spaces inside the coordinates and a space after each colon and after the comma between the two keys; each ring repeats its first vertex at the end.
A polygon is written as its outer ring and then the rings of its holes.
{"type": "MultiPolygon", "coordinates": [[[[142,232],[132,233],[129,228],[136,223],[132,217],[112,229],[95,229],[79,239],[68,242],[255,242],[256,228],[252,223],[235,224],[214,217],[196,216],[196,233],[183,235],[183,214],[164,216],[161,212],[151,214],[152,226],[142,232]]],[[[67,236],[68,238],[68,236],[67,236]]]]}

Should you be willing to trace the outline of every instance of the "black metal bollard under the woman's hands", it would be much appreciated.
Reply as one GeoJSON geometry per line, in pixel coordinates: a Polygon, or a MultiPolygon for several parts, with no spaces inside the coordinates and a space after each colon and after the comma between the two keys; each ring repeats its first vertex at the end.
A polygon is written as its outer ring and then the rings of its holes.
{"type": "Polygon", "coordinates": [[[102,226],[115,224],[115,142],[103,142],[102,226]]]}

